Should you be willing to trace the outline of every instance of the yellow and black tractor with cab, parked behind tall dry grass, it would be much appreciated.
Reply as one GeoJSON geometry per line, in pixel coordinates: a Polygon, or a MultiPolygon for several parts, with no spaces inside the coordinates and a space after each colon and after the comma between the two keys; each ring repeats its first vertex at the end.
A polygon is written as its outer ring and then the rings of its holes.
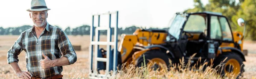
{"type": "Polygon", "coordinates": [[[122,34],[117,63],[140,67],[145,60],[146,65],[152,61],[156,62],[154,68],[159,68],[160,63],[169,66],[180,63],[182,58],[187,62],[196,54],[192,62],[198,62],[199,58],[206,62],[214,59],[213,67],[225,60],[222,75],[240,76],[244,72],[243,34],[232,32],[227,17],[214,12],[175,15],[167,30],[137,29],[132,35],[122,34]]]}

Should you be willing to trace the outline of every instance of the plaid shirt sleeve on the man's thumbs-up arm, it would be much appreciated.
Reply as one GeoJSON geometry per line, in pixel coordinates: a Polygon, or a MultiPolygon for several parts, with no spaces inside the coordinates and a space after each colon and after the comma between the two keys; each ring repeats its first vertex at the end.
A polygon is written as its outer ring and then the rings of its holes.
{"type": "Polygon", "coordinates": [[[63,53],[63,57],[66,57],[69,61],[69,65],[74,64],[76,62],[76,52],[71,45],[70,40],[67,37],[67,34],[61,30],[58,35],[58,47],[63,53]]]}

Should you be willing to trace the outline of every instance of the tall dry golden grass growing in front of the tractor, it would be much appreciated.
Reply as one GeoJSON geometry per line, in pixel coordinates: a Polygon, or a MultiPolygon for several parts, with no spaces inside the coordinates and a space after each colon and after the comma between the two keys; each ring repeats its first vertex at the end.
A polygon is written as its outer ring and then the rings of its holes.
{"type": "MultiPolygon", "coordinates": [[[[199,67],[196,65],[191,66],[190,63],[194,56],[195,54],[190,57],[186,64],[184,58],[180,59],[181,64],[172,64],[169,69],[165,65],[160,64],[160,68],[162,69],[158,68],[156,71],[154,71],[154,68],[150,68],[149,65],[145,65],[144,58],[142,67],[138,68],[135,67],[135,65],[125,67],[125,65],[122,65],[122,68],[120,69],[122,71],[118,71],[118,73],[111,76],[110,79],[236,79],[236,76],[234,75],[230,76],[225,74],[225,76],[220,76],[218,71],[216,71],[216,68],[212,68],[213,61],[211,61],[210,66],[207,66],[208,62],[199,65],[199,67]]],[[[172,63],[170,59],[169,63],[172,63]]],[[[223,66],[223,64],[218,66],[223,66]]],[[[239,78],[241,78],[241,76],[239,76],[239,78]]]]}

